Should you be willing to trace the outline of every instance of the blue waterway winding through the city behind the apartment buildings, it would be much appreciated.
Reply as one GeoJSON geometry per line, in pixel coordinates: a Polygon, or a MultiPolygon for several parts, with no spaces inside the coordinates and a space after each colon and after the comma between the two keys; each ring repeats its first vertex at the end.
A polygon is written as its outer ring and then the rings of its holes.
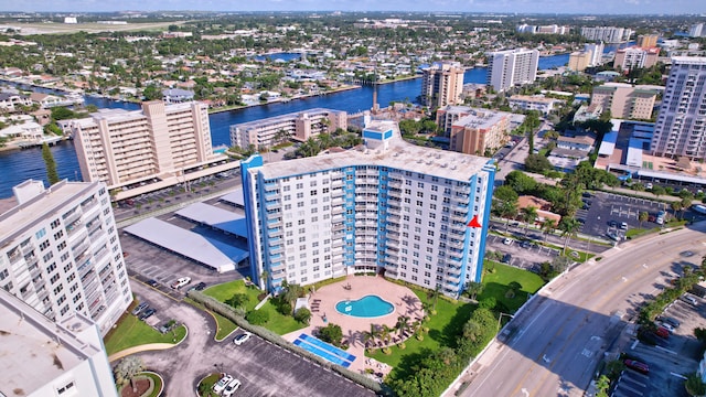
{"type": "MultiPolygon", "coordinates": [[[[298,56],[299,54],[296,55],[298,56]]],[[[539,69],[566,65],[568,63],[568,54],[541,57],[539,69]]],[[[463,81],[466,83],[485,84],[486,72],[488,68],[485,67],[468,69],[463,75],[463,81]]],[[[22,86],[22,88],[33,89],[41,93],[55,93],[55,90],[49,88],[30,86],[22,86]]],[[[378,86],[377,103],[382,107],[386,107],[391,101],[414,101],[420,92],[421,81],[419,78],[383,84],[378,86]]],[[[138,104],[92,96],[86,97],[86,104],[95,105],[98,108],[121,108],[128,110],[136,110],[140,108],[138,104]]],[[[338,94],[223,111],[213,114],[210,117],[211,138],[214,147],[221,144],[231,146],[229,127],[235,124],[258,120],[315,107],[357,112],[370,109],[372,104],[373,87],[363,86],[359,89],[338,94]]],[[[81,180],[81,170],[78,169],[78,160],[76,159],[76,151],[74,150],[73,143],[60,143],[52,148],[52,153],[56,161],[60,178],[72,181],[81,180]]],[[[40,148],[0,152],[0,198],[11,196],[12,186],[22,183],[28,179],[43,180],[46,184],[46,172],[40,148]]]]}

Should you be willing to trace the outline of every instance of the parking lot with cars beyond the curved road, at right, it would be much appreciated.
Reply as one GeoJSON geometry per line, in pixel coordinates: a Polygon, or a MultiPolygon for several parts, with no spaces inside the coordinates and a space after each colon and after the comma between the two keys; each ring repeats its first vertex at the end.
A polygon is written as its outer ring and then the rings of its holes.
{"type": "Polygon", "coordinates": [[[656,227],[659,226],[656,223],[648,221],[640,225],[640,213],[656,215],[657,212],[665,210],[664,203],[605,192],[586,194],[582,201],[584,208],[576,213],[576,218],[582,223],[579,232],[598,237],[605,237],[609,233],[624,237],[625,229],[620,228],[623,222],[628,225],[628,229],[656,227]],[[611,221],[616,226],[609,225],[611,221]]]}

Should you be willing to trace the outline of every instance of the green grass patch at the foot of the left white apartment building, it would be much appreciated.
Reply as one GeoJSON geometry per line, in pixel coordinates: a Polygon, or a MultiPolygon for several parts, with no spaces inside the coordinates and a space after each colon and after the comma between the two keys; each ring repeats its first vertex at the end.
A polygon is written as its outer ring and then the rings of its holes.
{"type": "Polygon", "coordinates": [[[160,333],[153,328],[138,320],[135,315],[126,314],[118,321],[116,328],[104,339],[108,355],[128,347],[148,343],[176,343],[186,336],[186,328],[179,325],[172,332],[160,333]]]}

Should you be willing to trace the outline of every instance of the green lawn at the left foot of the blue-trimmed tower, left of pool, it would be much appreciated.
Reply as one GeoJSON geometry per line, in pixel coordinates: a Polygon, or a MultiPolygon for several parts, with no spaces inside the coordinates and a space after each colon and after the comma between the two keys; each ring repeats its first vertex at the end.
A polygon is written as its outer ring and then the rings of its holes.
{"type": "MultiPolygon", "coordinates": [[[[250,311],[257,305],[257,297],[258,294],[263,293],[263,291],[257,288],[247,288],[245,287],[245,282],[243,280],[236,280],[218,286],[213,286],[204,290],[203,293],[213,297],[221,302],[231,299],[236,293],[247,293],[249,300],[245,307],[246,310],[250,311]]],[[[269,301],[265,303],[259,310],[269,313],[269,321],[263,324],[263,326],[279,335],[284,335],[306,326],[306,324],[298,322],[291,315],[280,314],[269,301]]]]}

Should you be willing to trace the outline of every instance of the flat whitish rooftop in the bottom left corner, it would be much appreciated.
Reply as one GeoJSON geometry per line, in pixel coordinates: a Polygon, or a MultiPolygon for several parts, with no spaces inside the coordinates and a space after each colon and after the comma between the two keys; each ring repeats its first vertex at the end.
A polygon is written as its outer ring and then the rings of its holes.
{"type": "Polygon", "coordinates": [[[98,346],[69,332],[95,326],[84,316],[69,318],[64,328],[0,290],[0,395],[32,395],[51,379],[100,353],[98,346]]]}

